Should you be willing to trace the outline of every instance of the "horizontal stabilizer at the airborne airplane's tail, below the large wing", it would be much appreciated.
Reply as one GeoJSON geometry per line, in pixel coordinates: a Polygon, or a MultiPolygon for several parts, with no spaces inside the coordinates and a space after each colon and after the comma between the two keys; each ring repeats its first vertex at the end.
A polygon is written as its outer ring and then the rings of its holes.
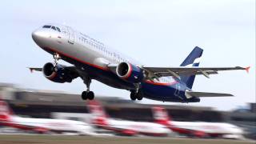
{"type": "Polygon", "coordinates": [[[221,93],[205,93],[205,92],[196,92],[196,91],[186,91],[186,98],[192,97],[232,97],[232,94],[221,94],[221,93]]]}

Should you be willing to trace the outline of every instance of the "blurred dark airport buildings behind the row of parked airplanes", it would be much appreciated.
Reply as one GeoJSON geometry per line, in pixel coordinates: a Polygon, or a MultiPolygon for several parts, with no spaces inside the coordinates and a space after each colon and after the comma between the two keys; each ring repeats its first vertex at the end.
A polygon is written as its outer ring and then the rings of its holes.
{"type": "MultiPolygon", "coordinates": [[[[0,96],[8,102],[15,114],[31,118],[65,118],[90,121],[87,102],[79,94],[50,90],[20,89],[12,84],[0,83],[0,96]]],[[[120,97],[96,97],[111,118],[131,121],[154,122],[151,108],[154,105],[140,104],[120,97]]],[[[164,106],[175,121],[183,122],[229,122],[242,126],[255,134],[255,103],[248,110],[218,111],[202,106],[164,106]]]]}

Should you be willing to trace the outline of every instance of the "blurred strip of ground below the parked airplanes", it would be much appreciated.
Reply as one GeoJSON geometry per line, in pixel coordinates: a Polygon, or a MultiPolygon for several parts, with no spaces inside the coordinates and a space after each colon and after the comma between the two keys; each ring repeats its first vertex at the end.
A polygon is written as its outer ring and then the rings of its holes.
{"type": "Polygon", "coordinates": [[[255,143],[255,141],[241,141],[229,139],[194,139],[194,138],[152,138],[152,137],[93,137],[93,136],[71,136],[71,135],[0,135],[0,144],[70,144],[70,143],[86,143],[86,144],[247,144],[255,143]]]}

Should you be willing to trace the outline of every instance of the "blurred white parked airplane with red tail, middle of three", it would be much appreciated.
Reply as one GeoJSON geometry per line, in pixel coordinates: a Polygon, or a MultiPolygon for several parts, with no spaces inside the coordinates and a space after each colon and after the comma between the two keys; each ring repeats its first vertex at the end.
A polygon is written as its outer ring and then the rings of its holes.
{"type": "Polygon", "coordinates": [[[91,123],[103,130],[114,131],[115,134],[125,136],[158,136],[163,137],[171,134],[171,130],[166,126],[154,122],[133,122],[109,118],[103,110],[100,102],[93,100],[88,102],[90,114],[92,114],[91,123]]]}

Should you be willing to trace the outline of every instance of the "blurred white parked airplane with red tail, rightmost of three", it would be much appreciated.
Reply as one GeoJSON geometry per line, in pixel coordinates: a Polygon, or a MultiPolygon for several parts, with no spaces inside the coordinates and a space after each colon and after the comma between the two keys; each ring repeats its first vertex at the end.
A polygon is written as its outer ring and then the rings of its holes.
{"type": "Polygon", "coordinates": [[[224,122],[177,122],[173,121],[162,106],[152,108],[154,121],[170,130],[194,138],[243,138],[241,128],[224,122]]]}

